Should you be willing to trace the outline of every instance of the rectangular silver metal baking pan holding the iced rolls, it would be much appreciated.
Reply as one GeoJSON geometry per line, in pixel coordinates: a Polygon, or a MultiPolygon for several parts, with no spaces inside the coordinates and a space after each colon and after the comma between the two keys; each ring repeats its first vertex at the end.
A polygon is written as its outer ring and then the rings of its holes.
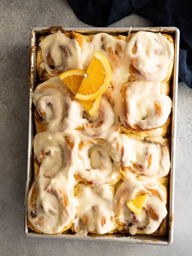
{"type": "Polygon", "coordinates": [[[27,196],[29,189],[33,182],[34,167],[33,167],[33,147],[32,140],[35,135],[34,125],[34,106],[32,103],[32,93],[38,83],[38,72],[36,69],[36,54],[38,38],[41,35],[47,35],[50,30],[56,28],[34,28],[31,31],[31,51],[29,63],[29,127],[28,127],[28,154],[27,154],[27,173],[26,173],[26,192],[25,192],[25,227],[24,232],[27,236],[37,237],[53,237],[53,238],[67,238],[67,239],[85,239],[97,241],[113,241],[113,242],[128,242],[128,243],[142,243],[142,244],[155,244],[155,245],[170,245],[173,242],[173,218],[174,218],[174,190],[175,190],[175,155],[176,155],[176,118],[177,118],[177,88],[178,88],[178,65],[179,65],[179,29],[176,27],[151,27],[151,28],[61,28],[66,31],[75,31],[81,34],[96,34],[105,32],[108,34],[125,34],[128,32],[138,31],[151,31],[151,32],[164,32],[171,34],[174,38],[175,45],[175,59],[173,66],[173,79],[171,80],[171,98],[173,99],[172,122],[170,132],[170,145],[171,145],[171,169],[170,169],[170,182],[168,189],[168,228],[165,236],[152,236],[152,235],[134,235],[130,234],[104,234],[96,235],[89,234],[87,236],[76,236],[73,233],[63,233],[60,235],[44,235],[36,233],[29,229],[27,226],[27,196]]]}

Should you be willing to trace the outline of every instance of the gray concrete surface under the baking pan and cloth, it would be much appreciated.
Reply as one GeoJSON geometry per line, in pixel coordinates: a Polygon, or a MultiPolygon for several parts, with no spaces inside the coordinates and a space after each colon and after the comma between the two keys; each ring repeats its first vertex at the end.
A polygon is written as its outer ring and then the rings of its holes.
{"type": "MultiPolygon", "coordinates": [[[[112,26],[150,26],[131,15],[112,26]]],[[[87,26],[64,0],[0,0],[0,255],[192,255],[192,90],[179,84],[174,242],[169,247],[24,235],[30,30],[87,26]]]]}

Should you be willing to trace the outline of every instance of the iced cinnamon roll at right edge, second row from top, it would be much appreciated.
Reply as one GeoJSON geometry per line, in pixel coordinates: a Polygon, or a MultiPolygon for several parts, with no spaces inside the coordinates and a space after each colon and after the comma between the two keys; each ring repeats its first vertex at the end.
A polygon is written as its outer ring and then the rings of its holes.
{"type": "Polygon", "coordinates": [[[126,131],[141,132],[158,127],[163,131],[171,108],[172,101],[161,94],[160,83],[134,81],[122,88],[121,121],[126,131]]]}

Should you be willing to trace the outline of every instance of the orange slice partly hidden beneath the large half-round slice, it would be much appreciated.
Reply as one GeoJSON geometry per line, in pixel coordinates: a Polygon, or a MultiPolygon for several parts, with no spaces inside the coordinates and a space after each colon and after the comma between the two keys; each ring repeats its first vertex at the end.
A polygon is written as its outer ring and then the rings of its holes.
{"type": "MultiPolygon", "coordinates": [[[[76,94],[83,80],[84,74],[86,74],[85,70],[73,69],[60,74],[59,78],[73,94],[76,94]]],[[[80,102],[82,103],[83,107],[88,111],[88,113],[92,116],[95,111],[98,110],[99,104],[101,102],[101,96],[92,101],[80,102]]]]}

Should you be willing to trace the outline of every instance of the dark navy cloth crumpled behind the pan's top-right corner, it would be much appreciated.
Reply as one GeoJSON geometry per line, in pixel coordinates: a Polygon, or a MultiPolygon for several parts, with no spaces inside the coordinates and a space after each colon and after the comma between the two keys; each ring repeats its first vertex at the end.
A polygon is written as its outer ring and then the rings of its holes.
{"type": "Polygon", "coordinates": [[[180,30],[179,81],[192,88],[192,0],[67,0],[79,20],[97,27],[136,13],[180,30]]]}

